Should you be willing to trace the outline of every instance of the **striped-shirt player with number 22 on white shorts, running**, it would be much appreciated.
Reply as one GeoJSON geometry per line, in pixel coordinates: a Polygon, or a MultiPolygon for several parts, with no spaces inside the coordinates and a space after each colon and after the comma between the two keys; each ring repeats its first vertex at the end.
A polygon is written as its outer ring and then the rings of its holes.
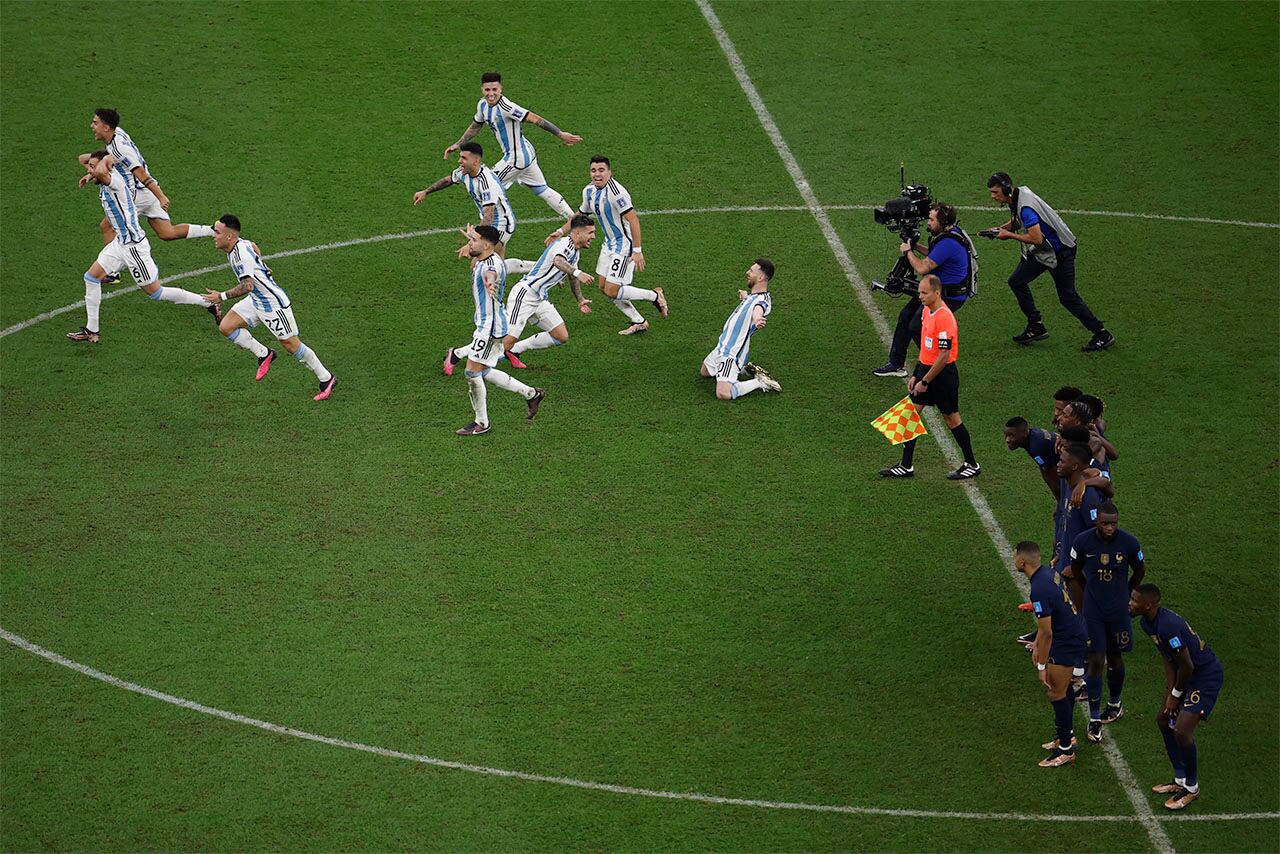
{"type": "Polygon", "coordinates": [[[338,378],[329,371],[316,352],[302,343],[298,338],[298,324],[293,319],[293,303],[289,294],[284,292],[271,269],[262,261],[262,254],[252,241],[243,239],[239,234],[239,218],[234,214],[223,214],[214,223],[214,245],[227,252],[227,260],[236,274],[237,284],[230,291],[206,291],[205,300],[210,305],[219,305],[227,300],[241,300],[223,318],[218,329],[227,339],[237,347],[242,347],[257,356],[257,375],[255,379],[266,376],[275,361],[275,351],[268,350],[250,334],[250,329],[259,323],[266,325],[273,335],[280,342],[294,359],[311,369],[311,373],[320,380],[320,391],[312,399],[324,401],[333,394],[338,378]]]}

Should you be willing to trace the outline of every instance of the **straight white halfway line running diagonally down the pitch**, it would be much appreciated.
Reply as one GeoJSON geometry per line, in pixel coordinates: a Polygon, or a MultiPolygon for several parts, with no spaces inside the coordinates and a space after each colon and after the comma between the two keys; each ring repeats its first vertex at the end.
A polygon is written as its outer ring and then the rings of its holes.
{"type": "MultiPolygon", "coordinates": [[[[836,233],[835,227],[831,224],[827,211],[818,202],[818,197],[814,195],[808,178],[804,175],[804,170],[796,161],[795,155],[791,154],[791,147],[787,145],[787,141],[783,138],[777,123],[773,120],[773,115],[769,113],[768,106],[765,106],[764,100],[760,97],[760,93],[756,91],[750,76],[746,73],[746,67],[742,64],[742,58],[733,46],[733,41],[728,37],[728,33],[724,32],[724,27],[716,15],[716,10],[712,9],[710,3],[708,0],[696,0],[696,3],[698,8],[703,12],[703,17],[707,18],[707,23],[714,33],[716,40],[719,42],[721,50],[724,52],[724,58],[728,60],[730,68],[733,70],[733,76],[737,77],[737,82],[742,87],[746,100],[750,101],[751,108],[755,110],[755,115],[760,120],[760,125],[773,142],[773,147],[777,150],[783,165],[791,174],[791,181],[795,183],[796,189],[804,198],[805,206],[809,207],[813,218],[818,223],[818,228],[822,230],[823,237],[827,238],[831,251],[836,255],[836,260],[845,270],[849,284],[852,287],[854,296],[858,297],[858,301],[863,306],[863,311],[867,312],[872,325],[876,326],[876,332],[879,334],[881,341],[886,347],[888,347],[892,335],[890,333],[888,323],[884,320],[884,315],[881,314],[879,307],[876,305],[874,300],[872,300],[870,291],[868,291],[861,274],[858,273],[852,260],[849,257],[849,251],[845,248],[844,241],[840,239],[840,234],[836,233]]],[[[959,451],[951,438],[943,433],[942,419],[938,417],[937,412],[933,410],[927,410],[925,420],[929,424],[933,438],[942,448],[942,452],[947,456],[952,465],[959,465],[961,461],[959,451]]],[[[1009,536],[996,520],[996,515],[991,511],[991,506],[987,503],[987,499],[982,494],[978,485],[973,481],[965,481],[964,492],[969,498],[969,503],[973,504],[974,511],[977,511],[978,519],[982,520],[982,526],[987,530],[987,535],[991,538],[992,545],[996,547],[1000,560],[1004,561],[1005,567],[1009,570],[1010,580],[1012,580],[1014,586],[1018,588],[1019,594],[1025,598],[1029,590],[1029,584],[1021,572],[1014,570],[1014,552],[1012,548],[1010,548],[1009,536]]],[[[1169,835],[1165,834],[1165,828],[1160,826],[1158,821],[1156,821],[1156,814],[1151,809],[1151,804],[1147,803],[1147,795],[1138,786],[1137,780],[1134,780],[1133,769],[1129,768],[1129,763],[1125,761],[1120,748],[1116,745],[1114,739],[1105,739],[1102,748],[1107,761],[1111,763],[1111,768],[1115,771],[1120,785],[1124,787],[1125,794],[1129,798],[1129,803],[1133,804],[1138,821],[1147,828],[1147,835],[1151,839],[1152,845],[1155,845],[1156,850],[1161,853],[1171,853],[1174,850],[1174,844],[1170,841],[1169,835]]]]}

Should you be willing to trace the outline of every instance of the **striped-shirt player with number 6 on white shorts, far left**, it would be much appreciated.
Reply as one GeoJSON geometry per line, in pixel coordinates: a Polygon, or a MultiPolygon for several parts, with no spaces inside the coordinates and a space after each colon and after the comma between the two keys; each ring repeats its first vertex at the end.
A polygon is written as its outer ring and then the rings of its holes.
{"type": "Polygon", "coordinates": [[[129,268],[133,282],[152,300],[200,306],[207,309],[215,321],[221,320],[218,306],[207,305],[198,293],[160,287],[160,269],[151,260],[151,243],[147,242],[147,233],[138,223],[133,188],[125,183],[124,174],[115,168],[115,157],[106,149],[100,149],[91,152],[83,164],[88,174],[79,179],[79,187],[99,184],[97,197],[102,202],[102,213],[111,223],[111,239],[84,273],[84,325],[67,333],[67,337],[91,344],[101,341],[99,310],[102,305],[102,282],[125,266],[129,268]]]}

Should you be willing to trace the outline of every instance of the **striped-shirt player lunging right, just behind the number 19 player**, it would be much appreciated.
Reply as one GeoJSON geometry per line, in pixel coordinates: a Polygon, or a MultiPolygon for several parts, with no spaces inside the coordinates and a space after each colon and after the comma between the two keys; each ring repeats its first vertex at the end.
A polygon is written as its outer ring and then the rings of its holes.
{"type": "Polygon", "coordinates": [[[568,342],[568,326],[550,301],[550,289],[561,282],[568,282],[577,310],[591,314],[591,301],[582,296],[581,286],[591,284],[595,277],[579,270],[577,259],[579,251],[595,239],[595,223],[586,214],[577,214],[568,224],[568,234],[548,246],[534,269],[511,289],[507,298],[507,337],[502,341],[508,359],[530,350],[558,347],[568,342]],[[530,320],[543,332],[517,341],[530,320]]]}

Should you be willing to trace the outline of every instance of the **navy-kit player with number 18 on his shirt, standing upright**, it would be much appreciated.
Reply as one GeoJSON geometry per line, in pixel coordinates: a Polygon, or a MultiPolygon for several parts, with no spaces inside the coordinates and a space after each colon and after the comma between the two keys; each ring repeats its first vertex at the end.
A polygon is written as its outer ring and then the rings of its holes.
{"type": "Polygon", "coordinates": [[[1129,592],[1147,574],[1138,538],[1120,528],[1110,501],[1098,506],[1097,524],[1071,540],[1071,576],[1084,584],[1084,625],[1089,654],[1084,685],[1089,694],[1089,741],[1102,740],[1102,725],[1124,714],[1124,653],[1133,649],[1129,592]],[[1107,671],[1107,708],[1102,711],[1102,670],[1107,671]]]}

